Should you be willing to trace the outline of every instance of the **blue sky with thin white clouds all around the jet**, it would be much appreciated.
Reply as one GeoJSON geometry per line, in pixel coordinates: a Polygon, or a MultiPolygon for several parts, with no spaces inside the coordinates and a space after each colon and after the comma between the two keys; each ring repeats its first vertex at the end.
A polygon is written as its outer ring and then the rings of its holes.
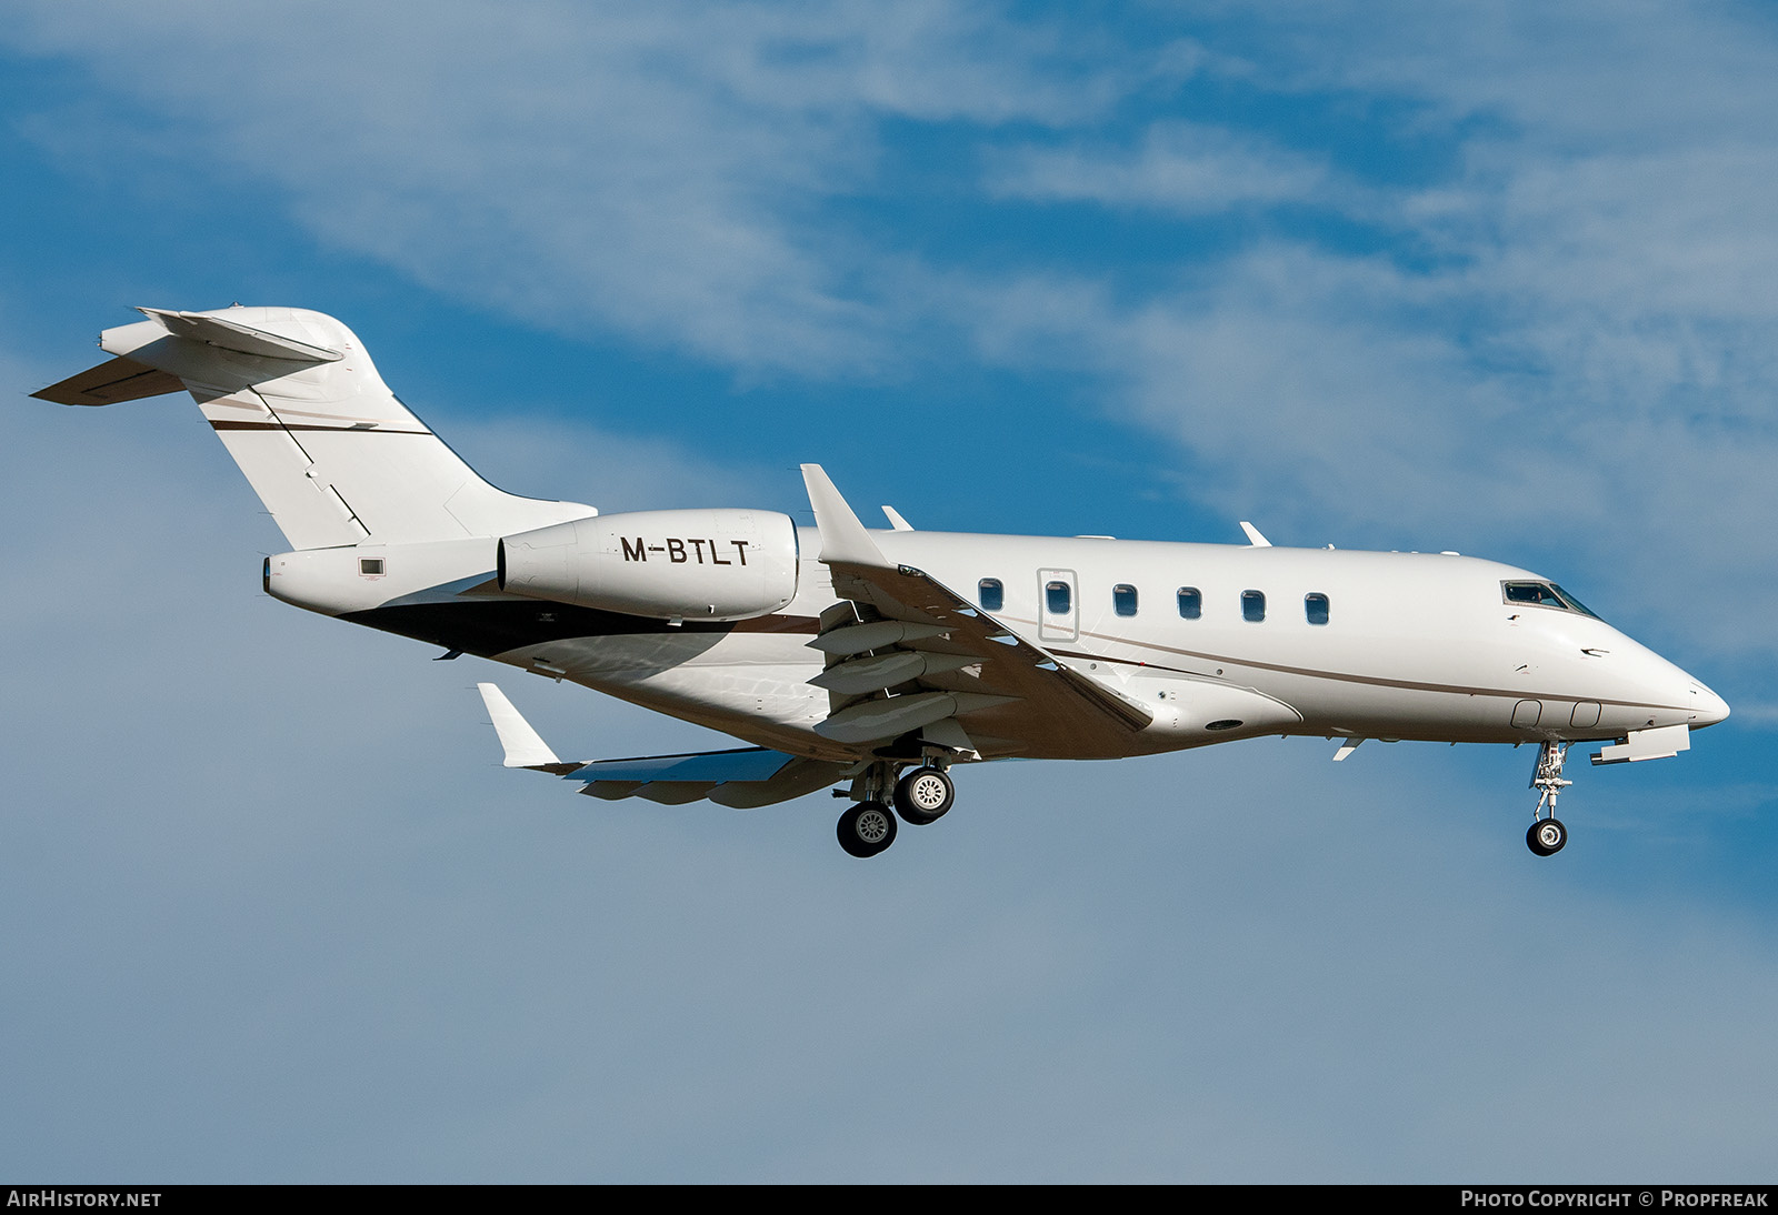
{"type": "Polygon", "coordinates": [[[1746,1179],[1778,1000],[1778,28],[1760,5],[14,7],[0,1172],[1746,1179]],[[338,314],[496,483],[1462,549],[1735,709],[1581,771],[1261,741],[820,798],[267,600],[133,304],[338,314]]]}

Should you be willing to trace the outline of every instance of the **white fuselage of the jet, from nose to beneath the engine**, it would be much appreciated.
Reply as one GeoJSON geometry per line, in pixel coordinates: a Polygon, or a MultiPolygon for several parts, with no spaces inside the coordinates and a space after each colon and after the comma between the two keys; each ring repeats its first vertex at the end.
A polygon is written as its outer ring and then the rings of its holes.
{"type": "MultiPolygon", "coordinates": [[[[997,581],[994,616],[1147,703],[1156,719],[1136,735],[1134,751],[1122,753],[1253,734],[1611,739],[1728,714],[1700,680],[1604,620],[1508,602],[1508,583],[1545,579],[1495,561],[928,531],[871,536],[887,558],[967,599],[980,600],[983,581],[997,581]],[[1045,588],[1054,583],[1067,586],[1065,611],[1051,611],[1045,588]],[[1195,618],[1181,611],[1182,590],[1195,592],[1186,599],[1195,618]],[[1264,597],[1262,615],[1253,593],[1264,597]],[[1321,597],[1325,623],[1310,622],[1309,597],[1321,597]],[[1218,689],[1248,689],[1278,709],[1236,709],[1239,728],[1205,732],[1218,689]],[[1205,703],[1211,709],[1198,709],[1205,703]]],[[[782,620],[811,620],[836,599],[827,567],[813,556],[813,529],[804,529],[802,551],[802,581],[782,620]]],[[[745,622],[729,632],[560,638],[498,657],[765,746],[839,758],[846,748],[814,734],[829,696],[807,682],[821,671],[811,632],[745,622]]],[[[1028,742],[1017,753],[1101,757],[1065,742],[1028,742]]]]}

